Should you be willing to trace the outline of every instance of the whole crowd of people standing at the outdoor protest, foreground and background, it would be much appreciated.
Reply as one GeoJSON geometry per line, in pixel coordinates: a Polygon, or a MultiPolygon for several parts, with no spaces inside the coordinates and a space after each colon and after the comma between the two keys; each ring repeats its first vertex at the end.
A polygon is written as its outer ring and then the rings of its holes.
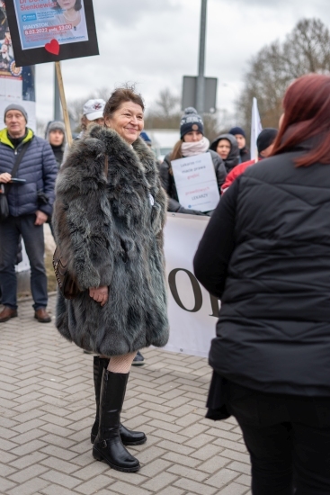
{"type": "Polygon", "coordinates": [[[139,469],[126,446],[147,437],[125,428],[120,411],[130,366],[144,362],[140,349],[164,347],[169,336],[166,211],[206,215],[194,269],[221,300],[208,417],[236,417],[254,495],[330,492],[329,94],[330,76],[290,85],[279,130],[260,133],[255,159],[245,130],[234,127],[210,143],[201,115],[189,107],[161,164],[132,88],[86,102],[71,148],[61,121],[49,122],[41,139],[21,105],[5,109],[0,184],[9,215],[0,222],[0,323],[17,316],[21,236],[34,317],[50,321],[43,224],[51,220],[80,291],[72,300],[58,292],[56,326],[96,355],[95,459],[126,473],[139,469]],[[215,210],[184,207],[175,184],[174,160],[201,154],[214,167],[215,210]]]}

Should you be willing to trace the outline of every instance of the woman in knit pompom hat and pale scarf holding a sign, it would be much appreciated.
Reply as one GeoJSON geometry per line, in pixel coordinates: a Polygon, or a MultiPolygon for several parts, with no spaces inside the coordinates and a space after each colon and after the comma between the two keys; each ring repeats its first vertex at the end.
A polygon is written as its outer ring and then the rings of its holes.
{"type": "Polygon", "coordinates": [[[201,153],[210,153],[219,192],[221,185],[225,182],[227,175],[225,165],[219,155],[210,150],[210,141],[204,136],[204,123],[201,115],[192,106],[184,110],[180,122],[180,138],[172,152],[165,156],[164,162],[159,167],[160,179],[168,196],[167,210],[190,215],[210,215],[211,211],[188,210],[180,204],[171,166],[171,162],[178,158],[194,157],[195,155],[201,155],[201,153]]]}

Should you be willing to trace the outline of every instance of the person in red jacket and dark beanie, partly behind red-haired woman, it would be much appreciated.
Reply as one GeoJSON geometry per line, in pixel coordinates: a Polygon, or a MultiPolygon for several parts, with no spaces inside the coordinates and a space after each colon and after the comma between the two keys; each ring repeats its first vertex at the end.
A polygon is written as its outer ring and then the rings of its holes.
{"type": "Polygon", "coordinates": [[[272,127],[268,127],[266,129],[263,129],[258,138],[256,139],[256,145],[258,148],[258,160],[249,160],[244,163],[240,163],[239,165],[235,166],[231,172],[226,177],[226,181],[224,184],[222,184],[221,187],[221,193],[224,193],[227,191],[227,188],[233,184],[233,182],[236,180],[236,178],[243,174],[243,172],[246,170],[248,166],[254,165],[256,161],[260,161],[263,158],[270,157],[272,155],[272,148],[274,147],[274,142],[275,139],[278,135],[279,131],[277,129],[274,129],[272,127]]]}

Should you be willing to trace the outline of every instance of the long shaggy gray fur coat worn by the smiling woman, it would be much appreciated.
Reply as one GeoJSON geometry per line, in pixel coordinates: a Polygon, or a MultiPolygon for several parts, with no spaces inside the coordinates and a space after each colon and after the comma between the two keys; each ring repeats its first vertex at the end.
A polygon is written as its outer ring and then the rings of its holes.
{"type": "Polygon", "coordinates": [[[72,301],[58,293],[62,336],[105,356],[165,346],[165,211],[155,157],[142,139],[129,147],[114,130],[94,126],[74,143],[58,173],[53,225],[84,292],[72,301]],[[88,293],[100,285],[109,286],[103,308],[88,293]]]}

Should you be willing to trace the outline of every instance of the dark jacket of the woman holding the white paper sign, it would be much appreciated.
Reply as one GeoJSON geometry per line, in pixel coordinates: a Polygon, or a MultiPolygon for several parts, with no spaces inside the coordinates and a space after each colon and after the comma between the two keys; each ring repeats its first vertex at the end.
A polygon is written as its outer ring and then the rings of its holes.
{"type": "MultiPolygon", "coordinates": [[[[221,157],[219,157],[218,153],[210,151],[210,149],[209,152],[210,152],[210,156],[212,157],[214,169],[217,176],[219,193],[221,193],[221,185],[224,184],[227,176],[226,168],[224,166],[224,162],[222,161],[221,157]]],[[[172,172],[170,156],[171,156],[170,153],[166,155],[164,158],[164,162],[159,167],[160,180],[168,196],[167,211],[174,211],[176,213],[188,213],[190,215],[206,214],[197,210],[188,210],[187,208],[183,208],[183,206],[180,204],[178,193],[176,191],[174,176],[172,172]]]]}

